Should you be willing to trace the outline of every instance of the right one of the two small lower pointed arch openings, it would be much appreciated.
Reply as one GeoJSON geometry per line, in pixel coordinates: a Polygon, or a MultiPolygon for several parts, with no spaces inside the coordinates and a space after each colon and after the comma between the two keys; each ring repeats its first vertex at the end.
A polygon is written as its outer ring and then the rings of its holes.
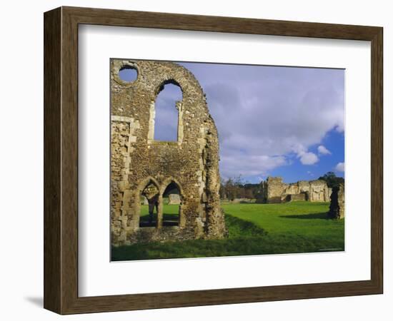
{"type": "Polygon", "coordinates": [[[171,181],[166,186],[163,197],[162,226],[179,226],[181,213],[181,193],[179,185],[171,181]]]}

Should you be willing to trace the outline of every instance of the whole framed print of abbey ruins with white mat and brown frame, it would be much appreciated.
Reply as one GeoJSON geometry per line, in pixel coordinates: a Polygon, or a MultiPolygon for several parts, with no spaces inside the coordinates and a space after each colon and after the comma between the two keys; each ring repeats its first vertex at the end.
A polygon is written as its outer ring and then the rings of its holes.
{"type": "Polygon", "coordinates": [[[44,307],[382,293],[382,28],[44,14],[44,307]]]}

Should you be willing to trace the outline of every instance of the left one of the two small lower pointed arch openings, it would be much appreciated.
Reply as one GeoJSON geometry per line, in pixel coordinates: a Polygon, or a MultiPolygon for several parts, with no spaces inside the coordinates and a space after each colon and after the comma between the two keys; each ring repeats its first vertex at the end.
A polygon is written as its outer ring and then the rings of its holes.
{"type": "Polygon", "coordinates": [[[149,228],[157,225],[159,200],[159,188],[150,180],[141,190],[141,211],[139,213],[140,228],[149,228]]]}

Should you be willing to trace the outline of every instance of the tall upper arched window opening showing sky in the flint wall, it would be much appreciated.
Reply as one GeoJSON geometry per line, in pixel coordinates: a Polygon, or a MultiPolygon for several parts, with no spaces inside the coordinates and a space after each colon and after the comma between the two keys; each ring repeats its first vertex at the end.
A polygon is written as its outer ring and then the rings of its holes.
{"type": "Polygon", "coordinates": [[[154,140],[177,141],[179,126],[178,104],[183,93],[176,81],[166,81],[159,88],[155,101],[154,140]]]}

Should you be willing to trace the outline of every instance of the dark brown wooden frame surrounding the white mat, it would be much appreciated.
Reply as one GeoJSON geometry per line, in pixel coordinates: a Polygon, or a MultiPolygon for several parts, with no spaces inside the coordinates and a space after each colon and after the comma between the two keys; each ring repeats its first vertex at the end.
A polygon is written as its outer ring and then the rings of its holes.
{"type": "MultiPolygon", "coordinates": [[[[379,294],[382,242],[381,27],[61,7],[44,14],[44,307],[60,314],[379,294]],[[371,280],[78,297],[78,25],[371,41],[371,280]]],[[[131,289],[130,289],[131,290],[131,289]]]]}

